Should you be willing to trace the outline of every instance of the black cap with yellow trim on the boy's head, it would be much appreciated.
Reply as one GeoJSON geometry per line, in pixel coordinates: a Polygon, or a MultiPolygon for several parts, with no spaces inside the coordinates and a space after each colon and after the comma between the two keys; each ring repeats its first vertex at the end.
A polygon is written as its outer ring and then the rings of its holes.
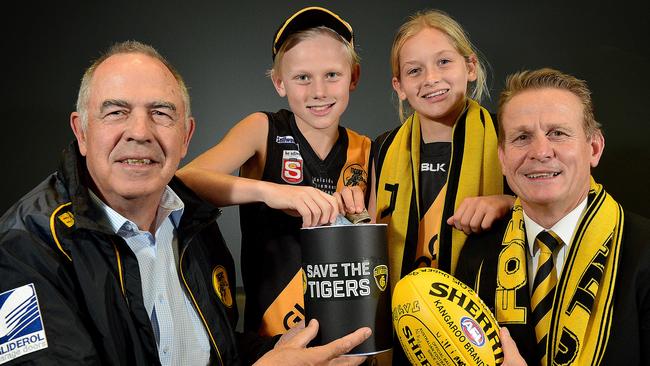
{"type": "Polygon", "coordinates": [[[273,59],[287,38],[310,28],[324,26],[340,34],[346,41],[354,45],[352,26],[330,10],[318,6],[310,6],[298,10],[287,18],[273,36],[273,59]]]}

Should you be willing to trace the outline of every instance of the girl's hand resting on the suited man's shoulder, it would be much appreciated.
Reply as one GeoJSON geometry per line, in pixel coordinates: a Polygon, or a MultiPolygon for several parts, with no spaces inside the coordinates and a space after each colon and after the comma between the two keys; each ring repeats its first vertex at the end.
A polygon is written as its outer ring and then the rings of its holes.
{"type": "Polygon", "coordinates": [[[479,233],[491,228],[492,223],[505,216],[514,203],[515,198],[508,195],[468,197],[447,219],[447,224],[468,235],[479,233]]]}

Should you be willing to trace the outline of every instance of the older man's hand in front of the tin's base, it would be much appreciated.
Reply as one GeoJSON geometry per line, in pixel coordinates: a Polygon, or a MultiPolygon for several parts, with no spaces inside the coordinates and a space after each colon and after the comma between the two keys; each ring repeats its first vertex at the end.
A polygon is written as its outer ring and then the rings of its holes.
{"type": "Polygon", "coordinates": [[[318,321],[312,319],[305,328],[301,326],[284,334],[275,347],[260,358],[255,365],[359,365],[366,358],[341,356],[370,337],[370,328],[360,328],[354,333],[334,340],[326,345],[307,347],[318,333],[318,321]]]}

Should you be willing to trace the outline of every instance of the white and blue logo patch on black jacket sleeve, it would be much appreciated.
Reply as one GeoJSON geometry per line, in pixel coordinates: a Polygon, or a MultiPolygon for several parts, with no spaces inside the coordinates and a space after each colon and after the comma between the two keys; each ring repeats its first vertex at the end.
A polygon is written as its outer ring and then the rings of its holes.
{"type": "Polygon", "coordinates": [[[34,284],[0,294],[0,365],[47,348],[34,284]]]}

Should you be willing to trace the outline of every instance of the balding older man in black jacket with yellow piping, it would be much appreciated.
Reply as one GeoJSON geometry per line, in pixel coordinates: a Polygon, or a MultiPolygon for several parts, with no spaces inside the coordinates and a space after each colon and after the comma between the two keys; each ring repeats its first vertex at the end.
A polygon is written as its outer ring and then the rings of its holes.
{"type": "MultiPolygon", "coordinates": [[[[362,329],[304,348],[233,331],[233,260],[218,209],[173,178],[194,131],[180,75],[124,42],[82,79],[59,170],[0,219],[0,363],[323,363],[362,329]],[[275,346],[275,347],[274,347],[275,346]]],[[[350,364],[362,358],[350,358],[350,364]]]]}

